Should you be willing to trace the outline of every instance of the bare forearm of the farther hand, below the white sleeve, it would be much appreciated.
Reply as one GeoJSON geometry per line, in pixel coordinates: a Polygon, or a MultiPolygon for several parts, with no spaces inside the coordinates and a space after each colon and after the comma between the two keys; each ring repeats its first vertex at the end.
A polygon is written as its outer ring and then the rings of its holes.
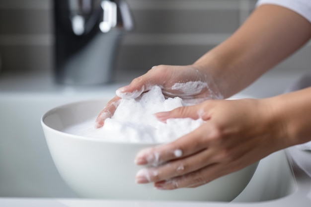
{"type": "Polygon", "coordinates": [[[225,98],[248,86],[311,38],[304,17],[277,5],[259,6],[225,42],[195,66],[213,75],[225,98]]]}

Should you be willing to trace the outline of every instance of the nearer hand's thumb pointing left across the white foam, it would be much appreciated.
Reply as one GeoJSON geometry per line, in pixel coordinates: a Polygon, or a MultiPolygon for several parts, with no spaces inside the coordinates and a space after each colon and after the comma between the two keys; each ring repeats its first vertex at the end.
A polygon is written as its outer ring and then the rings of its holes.
{"type": "MultiPolygon", "coordinates": [[[[210,100],[209,100],[210,101],[210,100]]],[[[206,104],[208,101],[204,102],[205,107],[203,108],[202,104],[197,104],[193,106],[183,106],[178,107],[172,111],[166,112],[158,112],[155,114],[156,118],[159,121],[165,122],[167,119],[176,119],[176,118],[191,118],[191,119],[203,119],[205,121],[210,119],[210,114],[208,109],[208,105],[206,104]]]]}

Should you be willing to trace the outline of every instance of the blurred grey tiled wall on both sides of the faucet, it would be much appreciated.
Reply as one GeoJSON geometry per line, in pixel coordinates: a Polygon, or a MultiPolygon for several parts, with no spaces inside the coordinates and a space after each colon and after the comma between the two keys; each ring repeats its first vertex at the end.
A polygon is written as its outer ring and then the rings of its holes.
{"type": "MultiPolygon", "coordinates": [[[[191,64],[233,33],[256,0],[127,0],[135,30],[121,44],[116,80],[154,65],[191,64]]],[[[53,70],[52,0],[0,0],[1,73],[53,70]]],[[[274,69],[307,70],[306,46],[274,69]]]]}

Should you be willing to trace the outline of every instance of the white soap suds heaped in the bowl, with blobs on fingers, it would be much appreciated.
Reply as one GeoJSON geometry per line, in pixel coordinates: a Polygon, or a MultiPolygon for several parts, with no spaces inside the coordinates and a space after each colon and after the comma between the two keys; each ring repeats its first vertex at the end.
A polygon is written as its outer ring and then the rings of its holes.
{"type": "MultiPolygon", "coordinates": [[[[135,93],[140,93],[137,91],[135,93]]],[[[159,86],[138,98],[122,98],[114,115],[105,120],[102,128],[94,127],[94,119],[66,128],[64,132],[89,138],[100,138],[119,142],[166,143],[186,135],[204,123],[202,119],[168,119],[160,122],[154,116],[157,112],[170,111],[183,106],[179,97],[165,99],[159,86]]],[[[175,155],[182,155],[182,151],[175,155]]],[[[159,162],[159,155],[154,155],[159,162]]]]}

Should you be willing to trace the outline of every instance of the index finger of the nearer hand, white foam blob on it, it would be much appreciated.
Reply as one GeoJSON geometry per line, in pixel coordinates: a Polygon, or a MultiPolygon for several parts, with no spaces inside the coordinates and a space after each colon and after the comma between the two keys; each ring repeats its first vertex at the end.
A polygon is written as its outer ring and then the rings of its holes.
{"type": "Polygon", "coordinates": [[[195,131],[173,142],[141,150],[135,159],[137,165],[158,166],[170,160],[180,159],[206,149],[209,142],[202,138],[209,126],[201,126],[195,131]],[[204,132],[203,132],[204,131],[204,132]]]}

